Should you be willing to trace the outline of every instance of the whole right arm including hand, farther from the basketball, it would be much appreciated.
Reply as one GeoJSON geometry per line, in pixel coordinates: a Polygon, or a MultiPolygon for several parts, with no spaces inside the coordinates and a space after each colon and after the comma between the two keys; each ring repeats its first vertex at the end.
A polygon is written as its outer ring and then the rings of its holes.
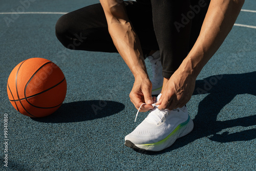
{"type": "Polygon", "coordinates": [[[199,37],[177,71],[166,81],[159,109],[173,110],[184,106],[195,89],[196,78],[208,60],[222,45],[232,29],[244,0],[210,2],[199,37]]]}

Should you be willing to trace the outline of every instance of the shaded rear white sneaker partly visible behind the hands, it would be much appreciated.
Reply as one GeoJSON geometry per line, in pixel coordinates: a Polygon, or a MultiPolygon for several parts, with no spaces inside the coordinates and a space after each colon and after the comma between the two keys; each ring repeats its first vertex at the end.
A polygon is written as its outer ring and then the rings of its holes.
{"type": "Polygon", "coordinates": [[[160,52],[156,51],[151,56],[147,56],[147,58],[151,62],[153,77],[151,79],[152,82],[152,95],[158,95],[162,91],[163,87],[163,76],[162,76],[162,64],[160,58],[160,52]]]}

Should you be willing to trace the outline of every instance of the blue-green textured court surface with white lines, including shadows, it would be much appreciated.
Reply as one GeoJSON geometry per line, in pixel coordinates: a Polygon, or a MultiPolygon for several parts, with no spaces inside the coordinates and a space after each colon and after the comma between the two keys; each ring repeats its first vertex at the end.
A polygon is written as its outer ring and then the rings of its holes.
{"type": "Polygon", "coordinates": [[[147,113],[134,122],[134,78],[119,54],[68,50],[55,36],[62,14],[95,3],[1,0],[0,170],[256,170],[256,1],[245,1],[197,79],[187,104],[194,130],[157,153],[124,146],[147,113]],[[32,57],[55,62],[67,79],[65,101],[45,118],[18,113],[7,96],[10,72],[32,57]]]}

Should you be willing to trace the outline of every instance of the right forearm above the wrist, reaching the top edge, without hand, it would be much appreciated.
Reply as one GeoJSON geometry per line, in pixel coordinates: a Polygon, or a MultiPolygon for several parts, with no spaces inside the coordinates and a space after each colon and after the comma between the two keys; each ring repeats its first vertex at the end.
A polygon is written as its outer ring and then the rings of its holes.
{"type": "Polygon", "coordinates": [[[232,29],[243,3],[244,1],[229,0],[210,2],[200,35],[183,60],[180,70],[195,77],[198,76],[232,29]]]}

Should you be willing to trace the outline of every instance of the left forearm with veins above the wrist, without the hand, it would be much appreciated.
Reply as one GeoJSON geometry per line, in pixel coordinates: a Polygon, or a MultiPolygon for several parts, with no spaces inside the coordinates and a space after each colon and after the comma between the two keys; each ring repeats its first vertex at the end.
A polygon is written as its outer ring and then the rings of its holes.
{"type": "Polygon", "coordinates": [[[126,65],[135,77],[137,75],[147,76],[140,42],[126,14],[123,1],[100,0],[100,3],[103,7],[114,45],[126,65]]]}

